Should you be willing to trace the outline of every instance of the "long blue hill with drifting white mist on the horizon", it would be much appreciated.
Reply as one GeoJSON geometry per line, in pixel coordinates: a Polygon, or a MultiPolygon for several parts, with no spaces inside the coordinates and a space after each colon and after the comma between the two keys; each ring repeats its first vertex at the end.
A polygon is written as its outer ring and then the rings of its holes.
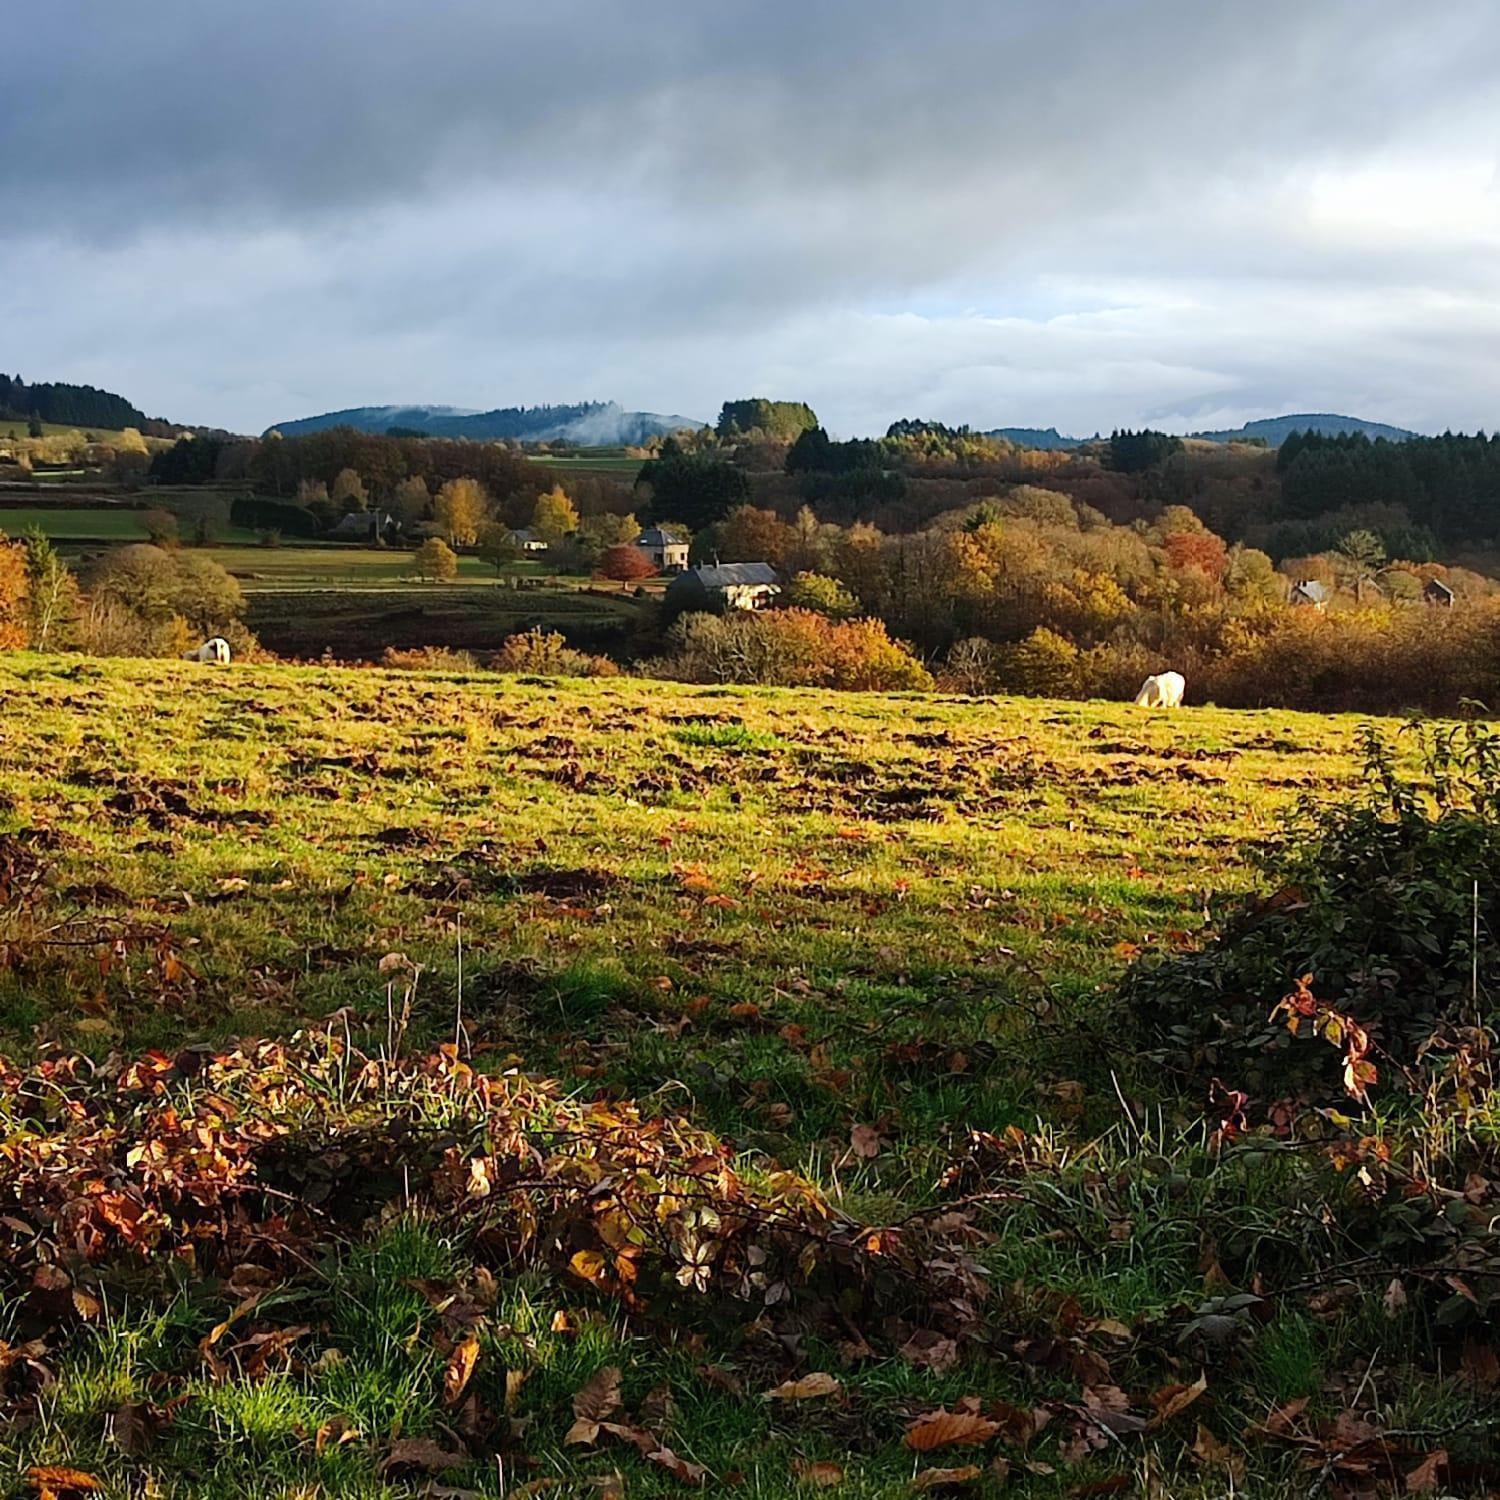
{"type": "Polygon", "coordinates": [[[386,432],[404,428],[432,438],[476,438],[482,441],[576,442],[579,447],[612,447],[645,442],[682,428],[705,428],[692,417],[672,417],[654,411],[626,411],[614,400],[585,400],[573,406],[498,406],[470,411],[464,406],[350,406],[326,411],[318,417],[278,422],[273,429],[284,438],[354,428],[358,432],[386,432]]]}

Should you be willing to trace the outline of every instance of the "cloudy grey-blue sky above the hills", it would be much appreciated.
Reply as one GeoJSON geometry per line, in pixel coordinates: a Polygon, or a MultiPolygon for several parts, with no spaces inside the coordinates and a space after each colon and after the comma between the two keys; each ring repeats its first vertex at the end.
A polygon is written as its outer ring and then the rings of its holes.
{"type": "Polygon", "coordinates": [[[1494,0],[46,0],[0,368],[356,405],[1500,426],[1494,0]]]}

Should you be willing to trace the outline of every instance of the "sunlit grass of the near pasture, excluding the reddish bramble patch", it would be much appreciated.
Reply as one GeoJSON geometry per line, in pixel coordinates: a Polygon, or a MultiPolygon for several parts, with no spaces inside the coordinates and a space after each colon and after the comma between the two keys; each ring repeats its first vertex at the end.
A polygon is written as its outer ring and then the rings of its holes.
{"type": "MultiPolygon", "coordinates": [[[[1348,789],[1352,718],[24,654],[0,656],[0,699],[12,1058],[166,1064],[334,1016],[338,1071],[340,1048],[387,1056],[405,998],[408,1052],[459,1035],[507,1088],[712,1132],[756,1191],[802,1173],[840,1222],[946,1203],[974,1130],[1014,1131],[1038,1172],[968,1210],[1004,1294],[962,1348],[837,1300],[794,1324],[776,1288],[729,1317],[692,1302],[692,1269],[654,1317],[586,1251],[573,1276],[492,1275],[398,1186],[380,1230],[273,1290],[237,1272],[80,1302],[0,1462],[174,1496],[904,1496],[944,1466],[922,1486],[982,1494],[1006,1464],[1024,1494],[1280,1496],[1328,1488],[1254,1436],[1299,1401],[1341,1410],[1364,1376],[1354,1402],[1390,1426],[1473,1414],[1408,1366],[1416,1314],[1380,1287],[1192,1341],[1194,1310],[1290,1252],[1284,1170],[1210,1152],[1112,1008],[1136,952],[1191,945],[1208,892],[1252,884],[1246,849],[1294,800],[1348,789]],[[1125,1206],[1100,1216],[1107,1192],[1125,1206]],[[764,1395],[807,1376],[837,1388],[764,1395]],[[1080,1383],[1155,1416],[1077,1428],[1080,1383]],[[1048,1416],[903,1442],[978,1402],[1048,1416]],[[590,1412],[630,1436],[590,1436],[590,1412]]],[[[36,1296],[0,1306],[0,1338],[30,1336],[36,1296]]]]}

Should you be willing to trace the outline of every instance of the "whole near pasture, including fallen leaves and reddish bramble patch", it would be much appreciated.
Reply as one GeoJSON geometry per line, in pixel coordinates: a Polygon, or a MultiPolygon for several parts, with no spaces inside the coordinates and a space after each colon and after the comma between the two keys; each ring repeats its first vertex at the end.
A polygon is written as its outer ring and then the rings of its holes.
{"type": "Polygon", "coordinates": [[[1420,1245],[1329,1269],[1382,1164],[1204,1112],[1116,994],[1353,720],[24,654],[0,700],[22,1486],[1492,1478],[1485,1324],[1420,1245]]]}

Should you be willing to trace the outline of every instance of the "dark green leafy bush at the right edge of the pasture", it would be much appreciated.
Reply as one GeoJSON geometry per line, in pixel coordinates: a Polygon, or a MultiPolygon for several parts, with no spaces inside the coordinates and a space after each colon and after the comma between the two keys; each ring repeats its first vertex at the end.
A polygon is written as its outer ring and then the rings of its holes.
{"type": "Polygon", "coordinates": [[[1420,1092],[1492,1022],[1500,986],[1500,730],[1410,726],[1419,770],[1362,732],[1358,794],[1305,804],[1257,858],[1270,894],[1220,903],[1206,945],[1144,963],[1125,999],[1173,1072],[1258,1100],[1340,1096],[1340,1053],[1274,1011],[1302,976],[1420,1092]]]}

